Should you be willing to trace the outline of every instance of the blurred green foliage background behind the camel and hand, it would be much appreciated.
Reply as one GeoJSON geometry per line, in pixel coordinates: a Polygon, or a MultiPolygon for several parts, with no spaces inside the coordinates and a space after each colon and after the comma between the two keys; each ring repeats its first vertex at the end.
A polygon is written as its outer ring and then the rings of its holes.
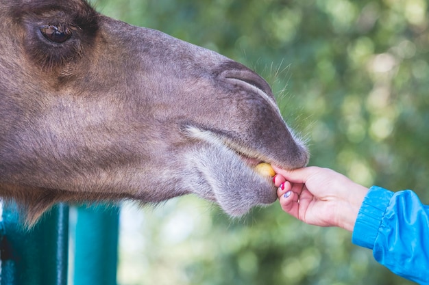
{"type": "MultiPolygon", "coordinates": [[[[429,202],[429,19],[425,0],[98,0],[97,10],[215,50],[273,87],[310,165],[429,202]]],[[[413,284],[337,228],[276,203],[230,219],[193,196],[121,211],[118,282],[413,284]]]]}

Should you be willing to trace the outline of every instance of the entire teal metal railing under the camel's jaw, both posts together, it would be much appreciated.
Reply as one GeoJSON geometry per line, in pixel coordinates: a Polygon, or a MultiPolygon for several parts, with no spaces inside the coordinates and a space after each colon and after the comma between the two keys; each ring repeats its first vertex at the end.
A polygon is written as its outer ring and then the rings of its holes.
{"type": "Polygon", "coordinates": [[[77,209],[73,277],[69,269],[69,206],[58,204],[31,230],[22,228],[16,204],[3,207],[0,285],[115,285],[119,208],[77,209]],[[69,284],[71,285],[71,284],[69,284]]]}

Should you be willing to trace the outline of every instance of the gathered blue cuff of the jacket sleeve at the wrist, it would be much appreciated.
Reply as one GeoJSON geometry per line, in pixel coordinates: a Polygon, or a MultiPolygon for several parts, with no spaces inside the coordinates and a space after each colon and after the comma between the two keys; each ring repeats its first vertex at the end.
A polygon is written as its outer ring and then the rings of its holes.
{"type": "Polygon", "coordinates": [[[382,187],[373,186],[369,188],[354,224],[352,243],[373,249],[382,217],[392,196],[392,191],[382,187]]]}

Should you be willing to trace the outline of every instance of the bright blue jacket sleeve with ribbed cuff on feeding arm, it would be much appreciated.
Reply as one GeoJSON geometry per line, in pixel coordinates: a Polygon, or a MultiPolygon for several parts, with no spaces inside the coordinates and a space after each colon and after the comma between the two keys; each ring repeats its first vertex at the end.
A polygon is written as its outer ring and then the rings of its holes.
{"type": "Polygon", "coordinates": [[[410,190],[369,189],[352,242],[373,249],[374,258],[393,273],[429,284],[429,206],[410,190]]]}

